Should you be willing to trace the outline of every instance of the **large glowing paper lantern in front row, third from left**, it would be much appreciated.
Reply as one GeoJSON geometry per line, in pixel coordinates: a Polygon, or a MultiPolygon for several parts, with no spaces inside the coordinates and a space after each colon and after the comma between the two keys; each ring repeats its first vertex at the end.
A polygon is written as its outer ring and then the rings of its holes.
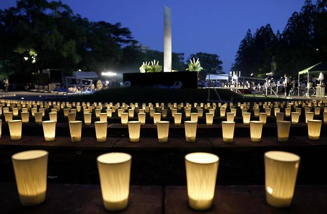
{"type": "Polygon", "coordinates": [[[194,210],[211,208],[215,195],[219,157],[205,152],[185,156],[188,203],[194,210]]]}

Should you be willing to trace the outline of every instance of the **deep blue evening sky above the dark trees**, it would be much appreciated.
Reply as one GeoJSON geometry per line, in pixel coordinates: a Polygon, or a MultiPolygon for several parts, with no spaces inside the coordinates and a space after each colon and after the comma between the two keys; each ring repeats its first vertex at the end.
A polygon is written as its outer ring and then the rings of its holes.
{"type": "MultiPolygon", "coordinates": [[[[151,49],[164,49],[164,9],[172,13],[172,51],[216,53],[228,72],[246,30],[252,33],[267,23],[283,30],[304,0],[62,0],[89,20],[121,22],[136,40],[151,49]]],[[[15,5],[0,0],[0,8],[15,5]]],[[[314,1],[315,2],[315,1],[314,1]]],[[[142,62],[140,62],[142,64],[142,62]]],[[[163,62],[160,62],[163,64],[163,62]]]]}

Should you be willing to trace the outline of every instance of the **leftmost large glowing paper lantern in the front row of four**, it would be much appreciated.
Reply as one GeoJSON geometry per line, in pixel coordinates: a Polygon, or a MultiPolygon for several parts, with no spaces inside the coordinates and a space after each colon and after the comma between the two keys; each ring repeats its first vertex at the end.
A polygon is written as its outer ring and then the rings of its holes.
{"type": "Polygon", "coordinates": [[[48,152],[30,150],[11,156],[20,204],[35,206],[45,200],[48,152]]]}

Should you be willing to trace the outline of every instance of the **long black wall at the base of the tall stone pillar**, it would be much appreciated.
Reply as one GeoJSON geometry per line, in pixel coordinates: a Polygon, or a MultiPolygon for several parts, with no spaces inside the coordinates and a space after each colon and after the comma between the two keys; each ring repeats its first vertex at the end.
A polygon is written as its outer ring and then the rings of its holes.
{"type": "Polygon", "coordinates": [[[124,73],[123,82],[129,81],[131,86],[165,87],[196,89],[197,72],[154,72],[154,73],[124,73]]]}

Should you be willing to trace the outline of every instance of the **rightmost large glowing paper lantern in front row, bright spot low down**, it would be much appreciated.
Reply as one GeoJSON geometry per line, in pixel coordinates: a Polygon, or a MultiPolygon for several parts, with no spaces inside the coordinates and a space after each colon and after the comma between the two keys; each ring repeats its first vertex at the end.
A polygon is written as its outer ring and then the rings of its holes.
{"type": "Polygon", "coordinates": [[[267,203],[273,207],[289,207],[292,203],[300,157],[281,151],[264,153],[267,203]]]}

